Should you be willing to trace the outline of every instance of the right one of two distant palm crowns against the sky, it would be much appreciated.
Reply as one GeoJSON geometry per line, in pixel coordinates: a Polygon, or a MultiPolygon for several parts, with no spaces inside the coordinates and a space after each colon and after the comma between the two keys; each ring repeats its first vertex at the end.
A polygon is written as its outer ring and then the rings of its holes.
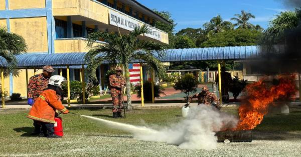
{"type": "Polygon", "coordinates": [[[237,22],[234,24],[234,26],[238,26],[238,28],[244,29],[252,29],[255,27],[253,24],[248,22],[250,18],[255,18],[252,13],[241,10],[241,14],[234,14],[234,16],[236,17],[231,18],[231,20],[235,20],[237,22]]]}

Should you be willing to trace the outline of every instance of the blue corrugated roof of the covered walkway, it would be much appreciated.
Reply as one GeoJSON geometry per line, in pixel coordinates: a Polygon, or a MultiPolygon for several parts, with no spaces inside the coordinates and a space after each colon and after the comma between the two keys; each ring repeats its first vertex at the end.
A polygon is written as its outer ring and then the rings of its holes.
{"type": "MultiPolygon", "coordinates": [[[[240,60],[256,58],[261,55],[260,46],[233,46],[233,47],[206,47],[206,48],[184,48],[167,49],[167,55],[160,58],[164,62],[189,61],[189,60],[240,60]]],[[[53,53],[53,54],[19,54],[16,55],[18,68],[42,67],[53,65],[63,68],[70,65],[70,68],[81,68],[85,64],[84,55],[86,52],[53,53]]],[[[0,58],[0,66],[6,66],[4,58],[0,58]]]]}

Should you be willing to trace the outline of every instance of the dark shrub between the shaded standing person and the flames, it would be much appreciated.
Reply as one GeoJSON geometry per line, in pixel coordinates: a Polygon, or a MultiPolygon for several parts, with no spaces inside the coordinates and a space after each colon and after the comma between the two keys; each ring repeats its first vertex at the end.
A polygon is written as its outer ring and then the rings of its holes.
{"type": "Polygon", "coordinates": [[[232,84],[230,84],[229,91],[232,92],[234,99],[237,98],[239,93],[245,88],[248,80],[240,79],[238,76],[232,78],[232,84]]]}

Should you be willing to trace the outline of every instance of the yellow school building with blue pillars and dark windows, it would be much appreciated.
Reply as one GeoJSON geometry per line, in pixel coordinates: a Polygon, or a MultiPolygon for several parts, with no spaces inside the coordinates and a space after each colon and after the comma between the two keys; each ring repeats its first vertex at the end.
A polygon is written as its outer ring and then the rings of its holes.
{"type": "MultiPolygon", "coordinates": [[[[168,34],[152,27],[155,21],[169,22],[136,0],[0,0],[0,25],[22,35],[28,53],[87,52],[85,37],[90,32],[117,33],[119,27],[120,33],[128,33],[144,23],[152,31],[139,39],[168,44],[168,34]]],[[[99,68],[101,79],[107,69],[99,68]]],[[[28,77],[41,72],[29,69],[28,77]]],[[[80,69],[70,69],[70,79],[80,80],[79,73],[80,69]]],[[[26,96],[25,82],[25,69],[19,69],[5,79],[5,90],[26,96]]]]}

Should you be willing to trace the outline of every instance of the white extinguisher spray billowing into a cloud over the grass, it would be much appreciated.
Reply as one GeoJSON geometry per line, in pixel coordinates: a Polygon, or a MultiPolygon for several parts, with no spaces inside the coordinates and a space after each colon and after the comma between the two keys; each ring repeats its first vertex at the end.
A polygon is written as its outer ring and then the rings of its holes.
{"type": "Polygon", "coordinates": [[[219,112],[215,108],[200,104],[191,107],[186,119],[161,129],[134,126],[82,115],[101,121],[112,128],[133,133],[135,139],[160,141],[178,145],[185,149],[214,149],[217,146],[215,132],[234,128],[238,119],[234,115],[219,112]]]}

